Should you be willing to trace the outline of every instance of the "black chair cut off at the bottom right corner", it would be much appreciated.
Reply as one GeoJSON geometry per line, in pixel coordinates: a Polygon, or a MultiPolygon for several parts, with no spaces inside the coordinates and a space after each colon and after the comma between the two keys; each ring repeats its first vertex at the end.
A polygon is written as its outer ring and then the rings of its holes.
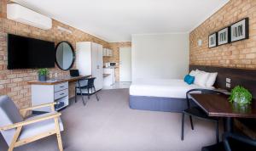
{"type": "Polygon", "coordinates": [[[256,140],[241,134],[225,132],[223,142],[201,148],[201,151],[255,151],[256,140]]]}

